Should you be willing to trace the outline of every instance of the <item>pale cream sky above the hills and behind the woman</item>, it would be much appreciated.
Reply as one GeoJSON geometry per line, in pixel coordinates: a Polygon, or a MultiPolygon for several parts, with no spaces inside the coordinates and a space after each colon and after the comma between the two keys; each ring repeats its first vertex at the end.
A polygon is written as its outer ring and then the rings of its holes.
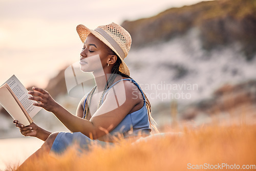
{"type": "Polygon", "coordinates": [[[0,84],[15,74],[26,87],[46,87],[49,78],[79,59],[79,24],[95,29],[198,2],[0,0],[0,84]]]}

